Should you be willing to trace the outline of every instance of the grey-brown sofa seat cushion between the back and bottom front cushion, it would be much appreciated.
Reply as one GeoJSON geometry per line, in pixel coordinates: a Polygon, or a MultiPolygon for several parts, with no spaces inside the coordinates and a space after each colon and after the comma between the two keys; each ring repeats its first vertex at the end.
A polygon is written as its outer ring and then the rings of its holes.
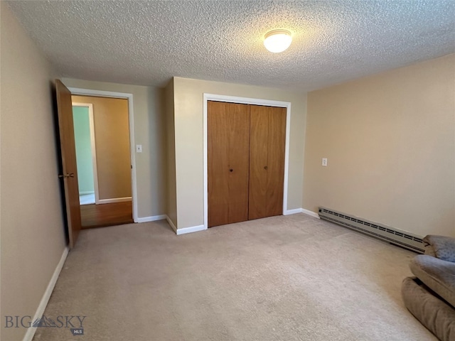
{"type": "Polygon", "coordinates": [[[455,307],[455,263],[419,254],[410,268],[420,281],[455,307]]]}

